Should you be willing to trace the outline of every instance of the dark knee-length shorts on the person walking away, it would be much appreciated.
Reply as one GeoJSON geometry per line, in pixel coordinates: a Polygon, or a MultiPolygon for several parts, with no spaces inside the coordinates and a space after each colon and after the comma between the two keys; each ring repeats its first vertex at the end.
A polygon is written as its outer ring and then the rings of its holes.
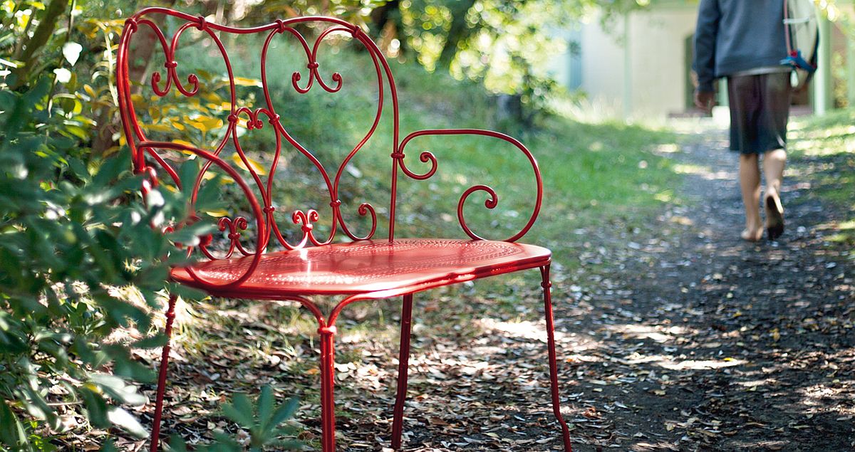
{"type": "Polygon", "coordinates": [[[787,146],[790,73],[728,77],[730,150],[760,154],[787,146]]]}

